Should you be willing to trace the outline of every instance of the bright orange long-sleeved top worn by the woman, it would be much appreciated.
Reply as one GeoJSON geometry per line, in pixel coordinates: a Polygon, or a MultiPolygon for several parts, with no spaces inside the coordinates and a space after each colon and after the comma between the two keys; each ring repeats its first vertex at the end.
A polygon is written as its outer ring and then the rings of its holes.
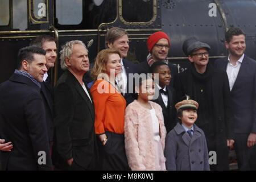
{"type": "Polygon", "coordinates": [[[126,100],[115,90],[110,82],[97,80],[90,93],[95,107],[95,132],[104,134],[105,131],[123,134],[125,123],[126,100]]]}

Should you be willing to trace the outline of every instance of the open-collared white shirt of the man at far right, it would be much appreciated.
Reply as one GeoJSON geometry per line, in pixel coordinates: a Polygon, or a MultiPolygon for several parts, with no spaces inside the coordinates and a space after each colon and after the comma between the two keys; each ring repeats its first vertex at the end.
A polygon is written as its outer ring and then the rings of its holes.
{"type": "Polygon", "coordinates": [[[233,65],[230,61],[230,55],[228,57],[228,65],[226,67],[226,73],[228,74],[229,77],[229,87],[230,87],[230,91],[232,90],[233,86],[234,86],[234,82],[237,79],[237,75],[238,72],[240,70],[242,61],[243,61],[243,57],[245,57],[245,54],[243,54],[240,59],[237,60],[237,64],[233,65]]]}

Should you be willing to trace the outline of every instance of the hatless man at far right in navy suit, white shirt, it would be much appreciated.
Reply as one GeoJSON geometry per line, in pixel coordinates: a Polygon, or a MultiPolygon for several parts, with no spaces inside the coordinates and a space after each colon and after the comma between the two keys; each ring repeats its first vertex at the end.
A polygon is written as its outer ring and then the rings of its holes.
{"type": "Polygon", "coordinates": [[[229,78],[238,168],[256,170],[256,61],[244,53],[245,36],[236,27],[226,32],[229,56],[216,60],[215,67],[225,71],[229,78]]]}

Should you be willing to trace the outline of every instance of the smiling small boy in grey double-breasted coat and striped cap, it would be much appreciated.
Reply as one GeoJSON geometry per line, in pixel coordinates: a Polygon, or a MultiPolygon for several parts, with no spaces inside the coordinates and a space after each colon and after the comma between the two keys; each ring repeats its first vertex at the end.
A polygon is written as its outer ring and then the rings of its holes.
{"type": "Polygon", "coordinates": [[[184,100],[175,105],[177,125],[166,137],[166,169],[168,171],[209,171],[209,156],[204,131],[194,123],[199,104],[184,100]]]}

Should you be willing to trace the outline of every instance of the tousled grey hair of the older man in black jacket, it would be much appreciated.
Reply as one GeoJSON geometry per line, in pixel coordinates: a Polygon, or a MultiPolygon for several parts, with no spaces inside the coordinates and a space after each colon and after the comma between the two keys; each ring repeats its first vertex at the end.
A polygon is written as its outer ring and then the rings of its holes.
{"type": "Polygon", "coordinates": [[[68,68],[68,65],[65,62],[66,58],[70,58],[73,53],[73,46],[75,44],[80,44],[85,47],[86,51],[88,52],[88,49],[86,48],[85,44],[81,40],[71,40],[67,43],[65,43],[61,47],[60,51],[60,67],[61,69],[65,70],[68,68]]]}

